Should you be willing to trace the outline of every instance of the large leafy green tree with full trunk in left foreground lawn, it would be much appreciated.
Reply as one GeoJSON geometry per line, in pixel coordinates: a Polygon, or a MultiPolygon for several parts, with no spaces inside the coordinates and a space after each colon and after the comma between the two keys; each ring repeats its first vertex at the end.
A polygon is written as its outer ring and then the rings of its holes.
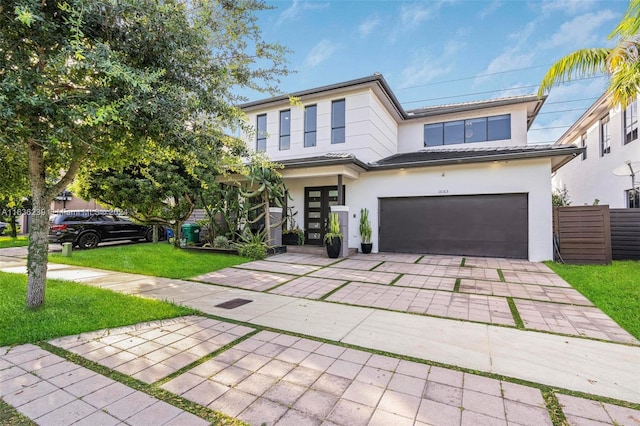
{"type": "MultiPolygon", "coordinates": [[[[286,51],[258,0],[3,0],[0,144],[23,155],[34,211],[85,168],[197,151],[202,120],[235,128],[238,86],[273,91],[286,51]]],[[[32,218],[27,306],[45,300],[48,214],[32,218]]]]}

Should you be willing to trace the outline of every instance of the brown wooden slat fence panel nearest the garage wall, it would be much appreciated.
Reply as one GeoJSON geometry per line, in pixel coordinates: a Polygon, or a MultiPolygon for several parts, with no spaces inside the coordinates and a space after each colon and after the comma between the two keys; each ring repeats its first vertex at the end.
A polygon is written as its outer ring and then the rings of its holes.
{"type": "Polygon", "coordinates": [[[554,207],[553,231],[565,263],[611,263],[609,206],[554,207]]]}

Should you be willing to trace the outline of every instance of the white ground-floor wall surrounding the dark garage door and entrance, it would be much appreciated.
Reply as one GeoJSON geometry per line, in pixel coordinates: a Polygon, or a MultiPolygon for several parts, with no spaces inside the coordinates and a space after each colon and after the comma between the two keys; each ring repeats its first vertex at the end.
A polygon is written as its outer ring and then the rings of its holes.
{"type": "MultiPolygon", "coordinates": [[[[379,198],[407,196],[455,196],[470,194],[527,193],[529,202],[529,260],[553,258],[551,162],[549,159],[500,161],[469,165],[412,168],[368,172],[359,179],[344,179],[349,206],[349,247],[360,246],[360,209],[369,209],[373,227],[373,250],[378,250],[379,198]]],[[[336,185],[336,178],[288,179],[298,210],[296,220],[304,225],[304,188],[336,185]]]]}

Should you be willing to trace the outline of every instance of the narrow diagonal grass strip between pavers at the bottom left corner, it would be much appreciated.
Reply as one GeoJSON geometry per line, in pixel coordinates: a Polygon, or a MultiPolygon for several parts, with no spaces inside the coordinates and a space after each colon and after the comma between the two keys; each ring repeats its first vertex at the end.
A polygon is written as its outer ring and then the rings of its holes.
{"type": "Polygon", "coordinates": [[[105,366],[102,366],[98,363],[95,363],[86,358],[83,358],[80,355],[74,354],[72,352],[68,352],[57,346],[53,346],[47,342],[38,342],[38,345],[42,349],[49,351],[55,355],[58,355],[76,365],[87,368],[91,371],[94,371],[112,380],[120,382],[126,386],[129,386],[132,389],[144,392],[147,395],[150,395],[154,398],[157,398],[161,401],[171,404],[174,407],[178,407],[181,410],[188,411],[191,414],[194,414],[198,417],[202,417],[203,419],[211,422],[213,425],[233,425],[233,426],[246,425],[246,423],[244,423],[239,419],[235,419],[224,413],[220,413],[217,411],[213,411],[209,408],[203,407],[199,404],[196,404],[195,402],[189,401],[186,398],[175,395],[160,387],[157,387],[155,385],[149,385],[140,380],[134,379],[131,376],[127,376],[126,374],[122,374],[118,371],[111,370],[105,366]]]}

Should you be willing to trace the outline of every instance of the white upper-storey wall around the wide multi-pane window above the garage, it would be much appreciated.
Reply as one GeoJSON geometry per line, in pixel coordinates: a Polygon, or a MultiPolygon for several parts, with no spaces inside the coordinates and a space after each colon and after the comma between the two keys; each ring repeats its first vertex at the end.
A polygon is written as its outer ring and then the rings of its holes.
{"type": "Polygon", "coordinates": [[[438,115],[424,119],[413,119],[400,124],[398,132],[398,152],[415,152],[425,149],[424,125],[442,123],[446,121],[466,120],[494,115],[511,114],[511,139],[489,142],[475,142],[468,144],[430,146],[429,149],[455,148],[489,148],[520,146],[527,144],[527,105],[509,105],[504,107],[487,108],[478,111],[459,112],[455,114],[438,115]]]}

